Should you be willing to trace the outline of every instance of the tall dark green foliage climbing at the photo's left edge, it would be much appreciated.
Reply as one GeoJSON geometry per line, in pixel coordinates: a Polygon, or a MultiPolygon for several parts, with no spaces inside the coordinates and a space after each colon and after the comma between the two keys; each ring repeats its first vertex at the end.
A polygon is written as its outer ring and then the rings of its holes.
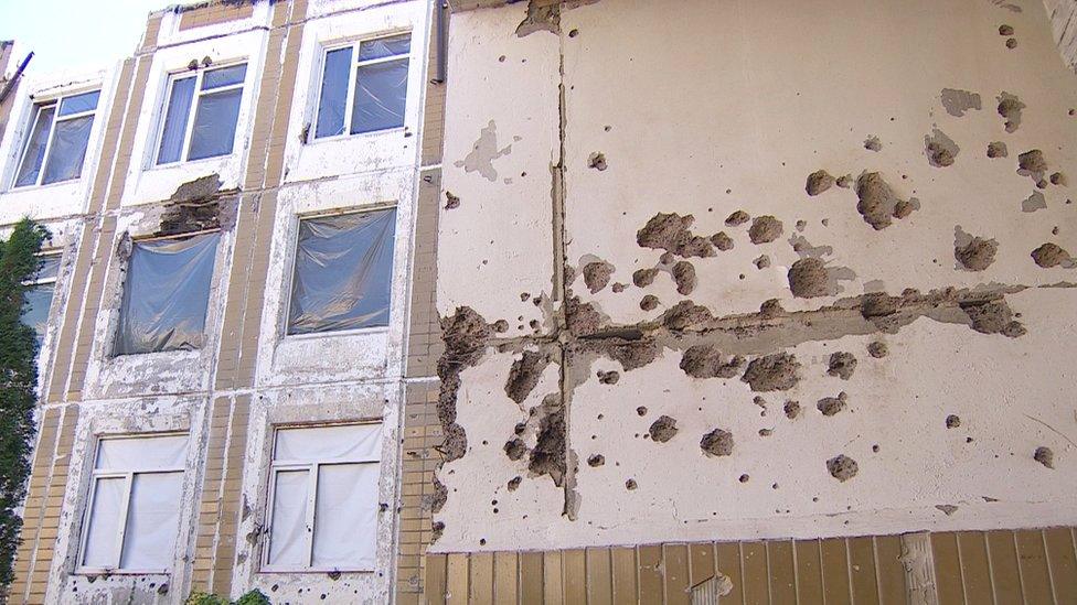
{"type": "Polygon", "coordinates": [[[22,519],[15,508],[26,494],[38,403],[38,343],[21,321],[24,281],[38,272],[47,231],[29,218],[0,241],[0,584],[10,584],[22,519]]]}

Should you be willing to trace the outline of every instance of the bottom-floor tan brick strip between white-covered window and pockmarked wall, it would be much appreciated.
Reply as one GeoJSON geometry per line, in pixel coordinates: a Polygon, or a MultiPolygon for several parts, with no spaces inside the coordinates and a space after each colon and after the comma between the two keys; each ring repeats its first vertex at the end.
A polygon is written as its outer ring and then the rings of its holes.
{"type": "Polygon", "coordinates": [[[441,462],[437,382],[407,385],[404,399],[404,454],[399,537],[396,560],[398,603],[418,603],[423,594],[426,548],[431,537],[434,469],[441,462]]]}

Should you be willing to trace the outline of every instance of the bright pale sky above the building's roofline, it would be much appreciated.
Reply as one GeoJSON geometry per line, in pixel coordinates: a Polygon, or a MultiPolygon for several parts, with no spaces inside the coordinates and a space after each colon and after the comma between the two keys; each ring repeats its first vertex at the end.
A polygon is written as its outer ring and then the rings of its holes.
{"type": "Polygon", "coordinates": [[[0,40],[15,41],[15,65],[33,51],[28,73],[95,71],[134,54],[147,14],[178,3],[185,2],[0,0],[0,40]]]}

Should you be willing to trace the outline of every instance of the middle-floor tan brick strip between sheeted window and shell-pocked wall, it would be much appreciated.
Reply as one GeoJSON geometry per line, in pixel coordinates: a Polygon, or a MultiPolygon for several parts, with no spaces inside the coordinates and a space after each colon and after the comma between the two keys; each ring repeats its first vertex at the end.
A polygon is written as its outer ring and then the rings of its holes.
{"type": "Polygon", "coordinates": [[[419,175],[409,304],[412,315],[407,329],[406,376],[409,378],[435,376],[437,359],[445,350],[435,304],[440,191],[440,170],[427,170],[419,175]]]}

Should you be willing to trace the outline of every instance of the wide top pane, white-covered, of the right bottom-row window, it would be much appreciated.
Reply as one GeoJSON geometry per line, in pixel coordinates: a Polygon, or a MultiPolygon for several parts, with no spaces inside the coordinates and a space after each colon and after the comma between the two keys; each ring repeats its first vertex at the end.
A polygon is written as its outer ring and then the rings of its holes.
{"type": "Polygon", "coordinates": [[[343,424],[280,429],[273,460],[328,462],[332,460],[372,461],[381,457],[381,424],[343,424]]]}

